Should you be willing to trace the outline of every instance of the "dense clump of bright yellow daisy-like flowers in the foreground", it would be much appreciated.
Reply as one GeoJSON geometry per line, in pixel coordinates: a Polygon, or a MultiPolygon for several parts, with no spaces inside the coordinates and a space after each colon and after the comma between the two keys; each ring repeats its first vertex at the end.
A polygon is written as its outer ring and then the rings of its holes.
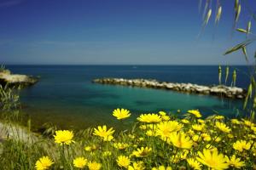
{"type": "MultiPolygon", "coordinates": [[[[116,109],[113,116],[122,121],[131,116],[131,111],[116,109]]],[[[67,163],[60,163],[58,158],[54,163],[49,158],[53,156],[43,156],[35,162],[35,167],[37,170],[256,167],[256,125],[252,120],[229,120],[221,115],[203,119],[199,110],[179,112],[178,116],[165,111],[141,114],[134,126],[125,130],[99,125],[91,128],[86,139],[75,139],[76,143],[72,131],[56,131],[56,145],[68,145],[62,152],[67,163]]]]}

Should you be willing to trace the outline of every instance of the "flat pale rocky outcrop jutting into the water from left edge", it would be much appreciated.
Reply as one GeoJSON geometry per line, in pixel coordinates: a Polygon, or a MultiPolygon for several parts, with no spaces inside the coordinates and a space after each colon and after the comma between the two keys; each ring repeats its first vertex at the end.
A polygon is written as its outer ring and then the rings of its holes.
{"type": "Polygon", "coordinates": [[[39,77],[11,74],[9,70],[0,71],[0,84],[5,86],[31,86],[38,82],[39,77]]]}

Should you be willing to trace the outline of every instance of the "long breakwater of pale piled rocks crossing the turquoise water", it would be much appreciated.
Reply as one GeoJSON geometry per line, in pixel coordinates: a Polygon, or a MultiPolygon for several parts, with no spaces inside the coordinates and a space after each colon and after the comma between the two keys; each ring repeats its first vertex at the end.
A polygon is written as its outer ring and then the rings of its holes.
{"type": "Polygon", "coordinates": [[[244,99],[247,94],[243,88],[224,85],[202,86],[191,83],[159,82],[151,79],[98,78],[93,82],[139,88],[160,88],[188,94],[209,94],[230,99],[244,99]]]}

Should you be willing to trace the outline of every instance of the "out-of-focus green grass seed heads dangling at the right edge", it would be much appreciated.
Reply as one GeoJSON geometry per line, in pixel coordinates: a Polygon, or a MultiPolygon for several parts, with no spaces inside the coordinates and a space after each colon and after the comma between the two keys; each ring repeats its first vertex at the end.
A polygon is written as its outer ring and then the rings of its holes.
{"type": "MultiPolygon", "coordinates": [[[[221,8],[221,2],[220,1],[209,1],[209,0],[205,0],[205,9],[208,8],[212,10],[212,6],[213,5],[216,5],[217,8],[215,8],[215,12],[216,12],[216,18],[215,18],[215,24],[218,25],[218,20],[220,20],[220,16],[221,16],[221,11],[222,11],[222,8],[221,8]],[[212,6],[211,6],[212,5],[212,6]]],[[[246,40],[243,40],[242,42],[236,44],[234,47],[232,48],[229,48],[228,50],[225,51],[224,55],[227,55],[227,54],[232,54],[238,50],[241,50],[244,58],[246,59],[247,61],[247,65],[248,67],[251,67],[251,65],[253,65],[253,68],[250,70],[250,85],[248,86],[247,88],[247,98],[245,99],[245,102],[244,102],[244,109],[247,109],[249,112],[251,112],[251,116],[252,118],[254,119],[254,115],[255,115],[255,112],[256,112],[256,107],[253,107],[254,105],[254,99],[256,98],[255,95],[256,95],[256,85],[254,83],[254,77],[256,77],[256,65],[255,65],[255,61],[253,63],[250,63],[250,60],[255,60],[256,59],[256,52],[254,54],[254,57],[251,57],[250,59],[250,56],[248,55],[247,53],[247,47],[252,44],[253,42],[255,42],[256,40],[256,36],[253,34],[253,32],[251,31],[251,28],[252,28],[252,22],[256,20],[256,14],[254,14],[250,7],[250,3],[249,1],[241,1],[241,0],[235,0],[234,1],[234,25],[233,25],[233,29],[242,33],[242,34],[246,34],[246,40]],[[247,4],[246,4],[247,3],[247,4]],[[241,15],[241,6],[246,6],[247,8],[245,8],[245,12],[247,12],[250,16],[251,16],[251,20],[248,20],[247,21],[247,26],[246,28],[236,28],[236,25],[238,24],[238,21],[240,19],[240,15],[241,15]],[[247,105],[248,103],[252,104],[252,105],[247,105]]],[[[201,2],[200,2],[201,4],[201,2]]],[[[212,11],[211,11],[212,12],[212,11]]],[[[209,18],[208,17],[208,14],[204,14],[205,15],[205,21],[204,21],[204,26],[207,25],[208,21],[209,21],[209,18]]],[[[228,72],[226,70],[226,78],[225,78],[225,82],[227,82],[227,75],[228,75],[228,72]]],[[[218,79],[219,79],[219,82],[221,81],[220,80],[220,77],[221,77],[221,74],[220,74],[220,71],[218,71],[218,79]]],[[[233,71],[233,75],[232,75],[232,86],[236,86],[236,70],[233,71]]]]}

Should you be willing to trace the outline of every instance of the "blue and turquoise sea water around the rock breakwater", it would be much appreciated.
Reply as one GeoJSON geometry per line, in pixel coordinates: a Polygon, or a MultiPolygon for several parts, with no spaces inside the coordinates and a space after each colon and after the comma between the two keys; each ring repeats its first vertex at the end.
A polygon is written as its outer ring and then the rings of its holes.
{"type": "MultiPolygon", "coordinates": [[[[23,111],[38,126],[44,122],[63,128],[119,126],[112,116],[112,111],[118,107],[131,111],[133,116],[128,122],[140,113],[176,112],[178,109],[183,112],[199,109],[204,116],[219,112],[232,117],[242,105],[241,100],[91,82],[98,77],[143,77],[210,85],[218,83],[218,66],[9,65],[8,68],[15,73],[41,77],[40,82],[20,93],[23,111]]],[[[237,66],[236,69],[238,86],[246,87],[247,68],[237,66]]]]}

